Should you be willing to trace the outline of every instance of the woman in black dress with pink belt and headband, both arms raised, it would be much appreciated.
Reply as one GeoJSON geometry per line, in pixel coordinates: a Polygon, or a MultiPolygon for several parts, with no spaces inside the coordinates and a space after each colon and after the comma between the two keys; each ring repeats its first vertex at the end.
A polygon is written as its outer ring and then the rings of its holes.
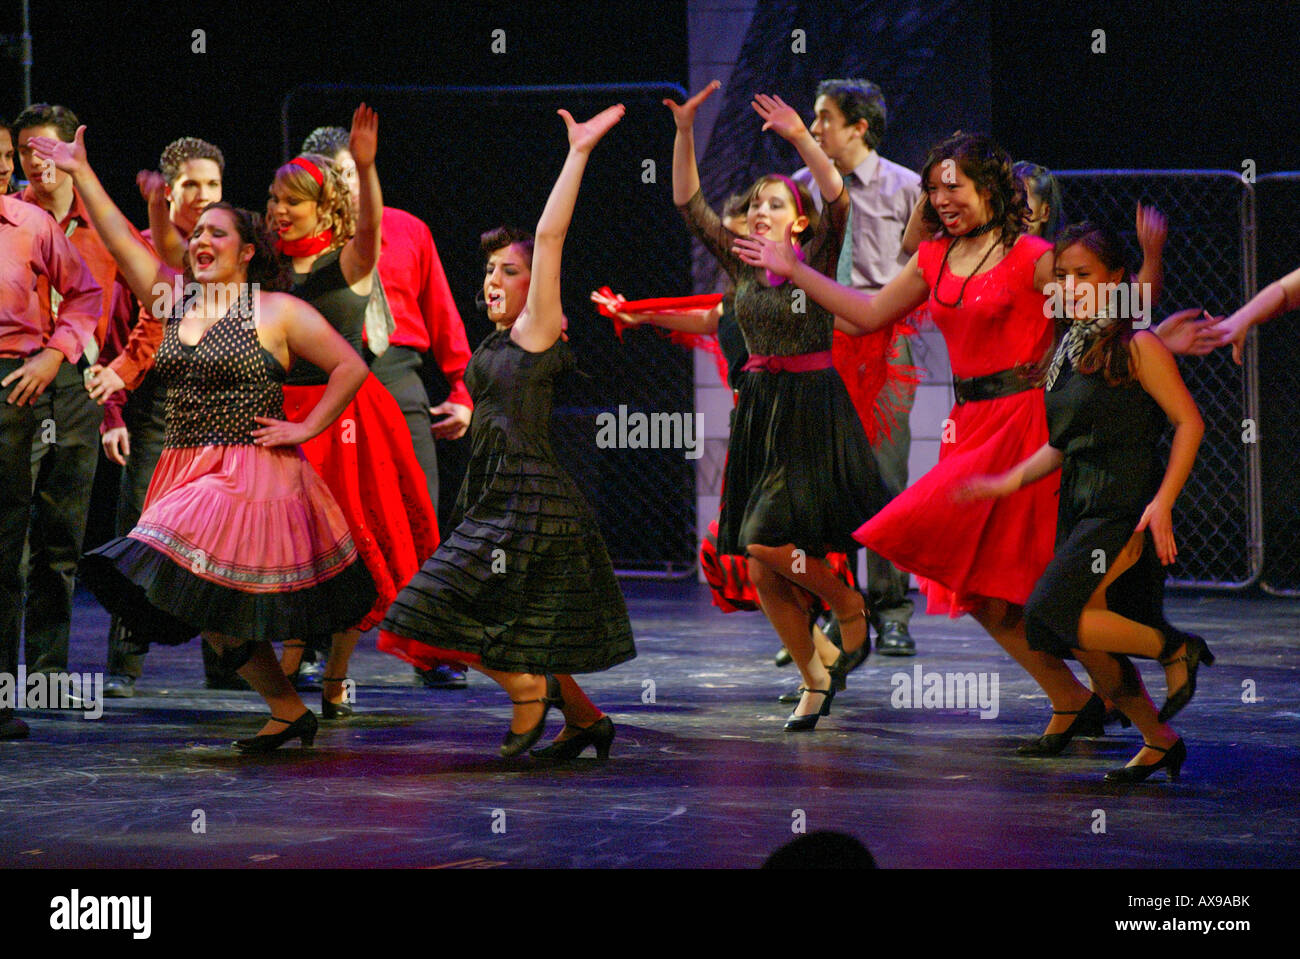
{"type": "MultiPolygon", "coordinates": [[[[748,557],[750,580],[768,621],[803,680],[802,697],[785,722],[790,732],[816,726],[831,711],[837,673],[867,638],[862,594],[826,561],[855,548],[852,531],[884,503],[884,490],[862,422],[831,356],[832,314],[784,279],[745,264],[732,252],[736,234],[705,201],[696,166],[694,120],[719,83],[676,104],[664,100],[677,126],[672,194],[692,233],[736,286],[736,320],[750,357],[727,452],[719,555],[748,557]],[[835,613],[842,654],[809,632],[809,594],[835,613]]],[[[811,268],[835,275],[849,212],[844,179],[780,97],[759,94],[754,110],[800,151],[824,199],[818,216],[807,191],[780,174],[749,190],[749,234],[802,240],[811,268]]],[[[845,326],[848,330],[849,327],[845,326]]]]}

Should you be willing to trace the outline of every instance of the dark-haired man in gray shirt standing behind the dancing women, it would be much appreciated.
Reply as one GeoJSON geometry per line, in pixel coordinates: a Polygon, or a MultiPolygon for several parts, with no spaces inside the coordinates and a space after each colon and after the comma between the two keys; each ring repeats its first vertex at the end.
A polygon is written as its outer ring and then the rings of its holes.
{"type": "MultiPolygon", "coordinates": [[[[876,152],[885,133],[885,97],[875,83],[857,78],[823,81],[812,109],[816,116],[810,131],[844,177],[853,204],[836,279],[864,292],[879,292],[907,264],[902,234],[920,199],[920,177],[876,152]]],[[[822,196],[807,169],[798,170],[794,179],[809,186],[820,209],[822,196]]],[[[907,338],[897,335],[894,346],[898,355],[890,363],[910,366],[907,338]]],[[[915,389],[893,382],[885,389],[894,390],[887,407],[897,412],[872,451],[887,492],[897,496],[907,486],[909,416],[915,389]]],[[[913,612],[907,574],[868,551],[866,596],[876,650],[887,656],[916,655],[907,633],[913,612]]]]}

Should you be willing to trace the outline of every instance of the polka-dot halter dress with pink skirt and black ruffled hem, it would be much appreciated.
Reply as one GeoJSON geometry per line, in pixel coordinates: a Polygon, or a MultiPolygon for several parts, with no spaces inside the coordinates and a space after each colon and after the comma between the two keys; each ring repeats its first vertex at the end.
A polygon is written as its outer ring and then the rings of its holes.
{"type": "Polygon", "coordinates": [[[254,443],[283,418],[285,370],[242,300],[196,346],[164,330],[156,369],[166,435],[144,509],[82,560],[100,603],[140,643],[211,630],[250,641],[329,634],[374,602],[338,504],[298,447],[254,443]]]}

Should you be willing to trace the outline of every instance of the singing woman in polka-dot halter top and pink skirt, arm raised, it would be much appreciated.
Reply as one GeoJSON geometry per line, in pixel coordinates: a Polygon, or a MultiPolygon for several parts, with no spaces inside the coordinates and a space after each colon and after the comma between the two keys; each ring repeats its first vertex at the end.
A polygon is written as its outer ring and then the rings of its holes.
{"type": "Polygon", "coordinates": [[[280,264],[252,213],[218,203],[190,238],[177,274],[135,238],[73,143],[32,148],[72,174],[131,291],[169,316],[157,369],[166,389],[166,441],[136,526],[88,554],[86,583],[150,642],[196,633],[228,652],[266,700],[270,719],[235,743],[265,752],[309,746],[316,716],[280,669],[272,641],[329,634],[374,602],[343,515],[298,448],[347,405],[365,364],[315,309],[281,292],[280,264]],[[182,281],[186,295],[177,295],[182,281]],[[329,383],[302,422],[283,415],[281,383],[294,357],[329,383]]]}

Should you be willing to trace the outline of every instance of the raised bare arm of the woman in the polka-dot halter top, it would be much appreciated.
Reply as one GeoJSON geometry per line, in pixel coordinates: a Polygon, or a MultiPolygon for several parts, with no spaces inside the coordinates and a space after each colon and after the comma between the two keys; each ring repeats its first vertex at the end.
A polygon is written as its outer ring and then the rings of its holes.
{"type": "Polygon", "coordinates": [[[73,185],[86,204],[95,231],[104,242],[108,252],[117,260],[131,292],[152,311],[155,300],[170,298],[170,282],[174,272],[168,269],[150,249],[144,240],[135,235],[130,221],[122,216],[99,177],[86,160],[86,127],[77,127],[77,138],[72,143],[55,140],[49,136],[32,136],[31,148],[42,160],[55,164],[60,170],[72,174],[73,185]]]}

